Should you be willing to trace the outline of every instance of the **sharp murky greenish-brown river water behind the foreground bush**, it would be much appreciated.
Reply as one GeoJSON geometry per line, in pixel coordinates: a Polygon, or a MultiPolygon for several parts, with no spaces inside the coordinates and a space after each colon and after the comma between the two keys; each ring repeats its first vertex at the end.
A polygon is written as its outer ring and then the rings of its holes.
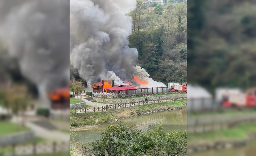
{"type": "MultiPolygon", "coordinates": [[[[184,109],[179,110],[160,111],[157,113],[140,115],[124,119],[123,122],[124,125],[130,125],[132,127],[138,125],[139,129],[145,131],[156,128],[160,122],[164,127],[165,132],[178,129],[184,131],[187,129],[187,109],[185,107],[184,109]]],[[[75,138],[76,142],[80,141],[81,143],[100,139],[100,131],[104,131],[109,125],[111,124],[95,126],[85,131],[74,132],[73,134],[70,133],[70,139],[75,138]]]]}

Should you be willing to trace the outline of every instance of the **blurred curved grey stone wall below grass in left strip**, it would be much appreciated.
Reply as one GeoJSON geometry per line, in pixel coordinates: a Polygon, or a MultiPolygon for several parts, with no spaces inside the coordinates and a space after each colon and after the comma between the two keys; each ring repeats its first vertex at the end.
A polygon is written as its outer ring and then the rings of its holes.
{"type": "Polygon", "coordinates": [[[17,134],[0,136],[0,146],[11,145],[26,142],[34,139],[35,135],[33,131],[26,131],[17,134]]]}

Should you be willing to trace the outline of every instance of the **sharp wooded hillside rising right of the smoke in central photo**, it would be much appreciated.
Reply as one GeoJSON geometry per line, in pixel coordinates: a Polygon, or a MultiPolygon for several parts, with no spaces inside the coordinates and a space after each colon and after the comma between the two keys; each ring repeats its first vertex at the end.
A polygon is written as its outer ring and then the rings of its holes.
{"type": "Polygon", "coordinates": [[[137,65],[167,85],[187,79],[187,9],[183,0],[164,2],[137,0],[136,9],[128,14],[133,24],[129,46],[139,52],[137,65]],[[146,10],[149,7],[154,10],[146,10]]]}

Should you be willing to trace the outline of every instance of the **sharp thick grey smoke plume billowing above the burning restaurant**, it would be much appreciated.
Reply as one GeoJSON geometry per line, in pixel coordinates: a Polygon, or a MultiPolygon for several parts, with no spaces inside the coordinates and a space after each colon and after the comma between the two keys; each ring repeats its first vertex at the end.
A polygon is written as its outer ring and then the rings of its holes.
{"type": "MultiPolygon", "coordinates": [[[[126,14],[136,7],[136,0],[70,0],[70,60],[88,84],[103,79],[156,87],[158,82],[136,66],[137,49],[129,48],[132,19],[126,14]]],[[[165,87],[158,83],[158,87],[165,87]]]]}

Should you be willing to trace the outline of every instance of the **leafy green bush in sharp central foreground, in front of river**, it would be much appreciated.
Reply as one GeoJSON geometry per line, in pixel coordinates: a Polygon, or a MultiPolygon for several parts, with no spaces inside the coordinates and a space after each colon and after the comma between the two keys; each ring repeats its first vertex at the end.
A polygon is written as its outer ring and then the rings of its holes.
{"type": "Polygon", "coordinates": [[[137,128],[108,126],[101,132],[100,140],[83,144],[86,156],[185,156],[187,146],[186,131],[164,132],[161,124],[154,130],[145,132],[137,128]]]}

